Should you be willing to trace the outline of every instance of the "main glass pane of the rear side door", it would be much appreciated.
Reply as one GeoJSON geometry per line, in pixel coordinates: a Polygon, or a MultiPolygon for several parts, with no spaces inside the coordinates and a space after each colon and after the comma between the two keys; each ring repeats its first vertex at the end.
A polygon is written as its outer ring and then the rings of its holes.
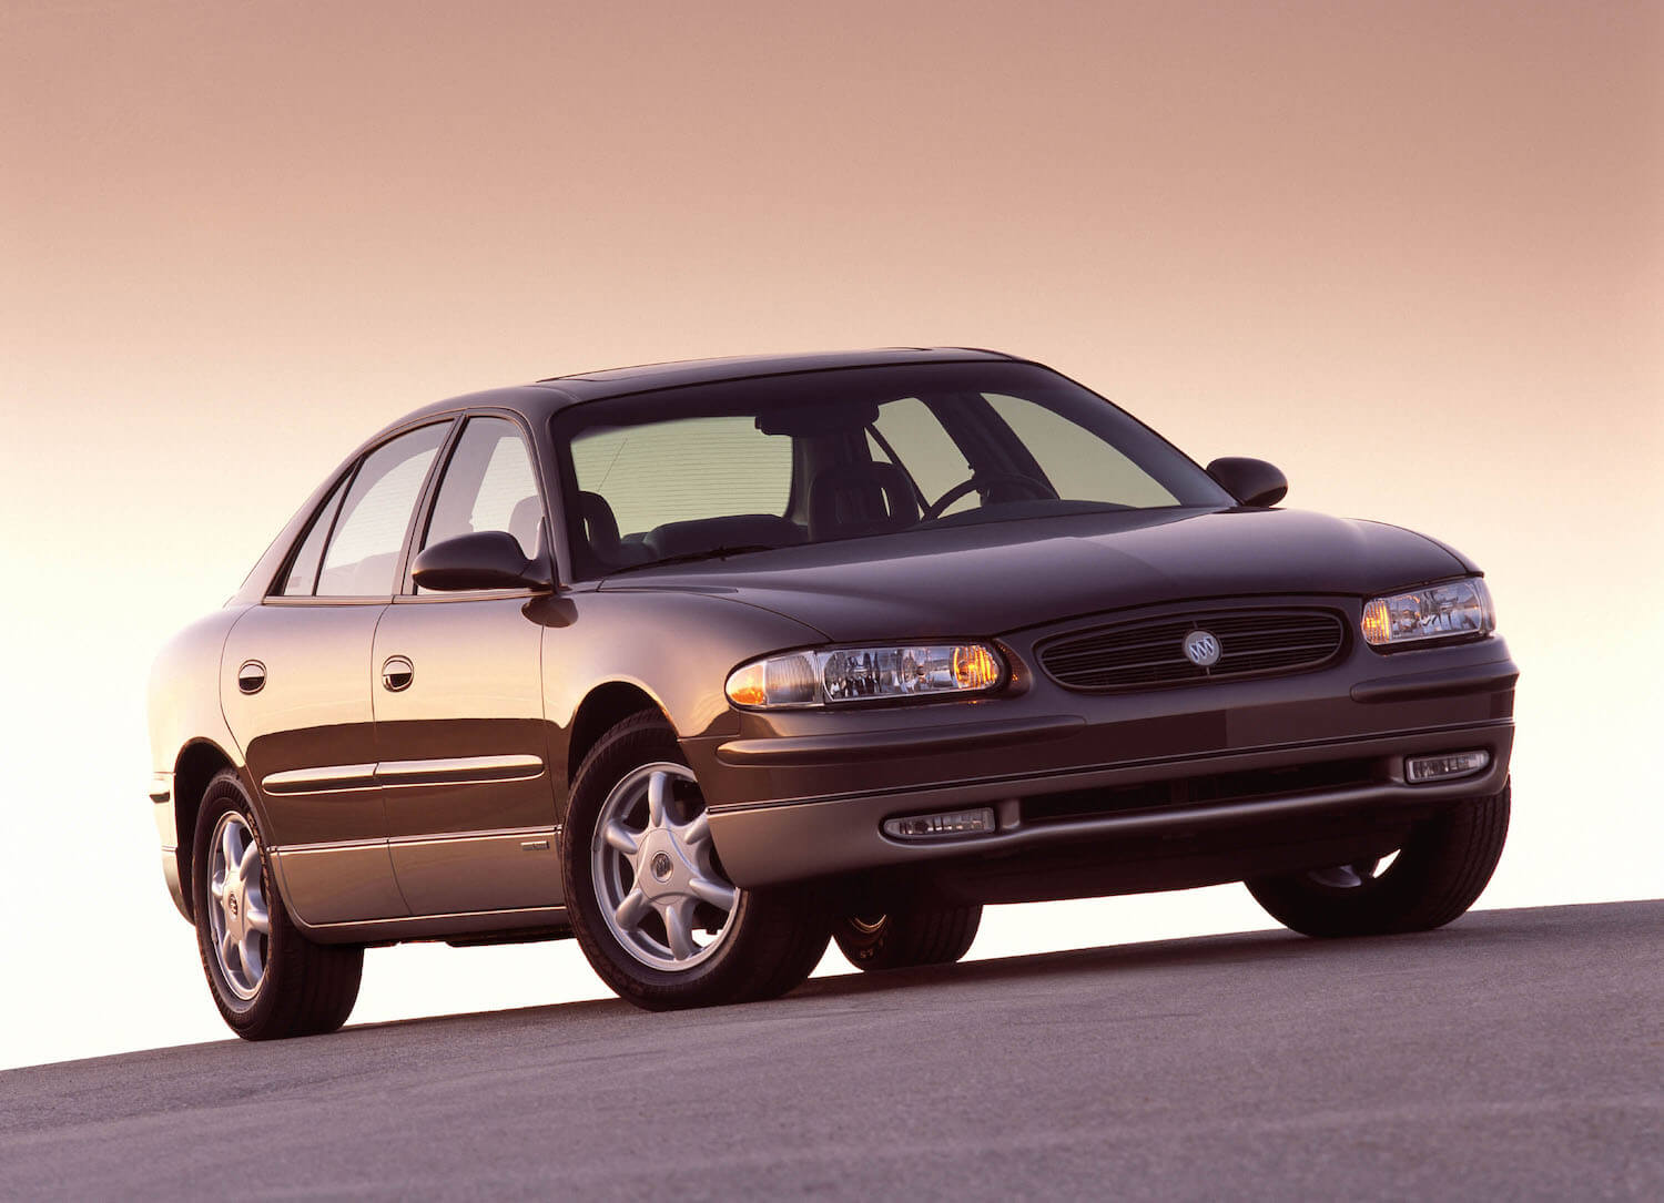
{"type": "Polygon", "coordinates": [[[393,592],[411,511],[446,429],[449,423],[423,426],[364,458],[323,556],[319,597],[386,597],[393,592]]]}

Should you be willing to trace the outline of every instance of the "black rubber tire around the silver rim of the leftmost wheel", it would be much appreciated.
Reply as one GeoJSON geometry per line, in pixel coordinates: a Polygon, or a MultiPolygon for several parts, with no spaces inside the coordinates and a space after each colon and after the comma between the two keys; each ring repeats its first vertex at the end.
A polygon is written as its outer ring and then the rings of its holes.
{"type": "Polygon", "coordinates": [[[313,943],[295,927],[271,875],[260,819],[231,769],[208,782],[196,814],[191,903],[196,915],[196,950],[208,977],[208,988],[220,1015],[236,1035],[245,1040],[283,1040],[334,1032],[346,1023],[353,1003],[358,1002],[364,950],[359,945],[313,943]],[[210,897],[210,844],[220,830],[221,817],[228,814],[240,815],[241,824],[253,834],[260,854],[260,889],[270,922],[270,932],[265,935],[265,972],[250,998],[233,988],[226,968],[220,963],[210,917],[210,907],[220,905],[210,897]]]}

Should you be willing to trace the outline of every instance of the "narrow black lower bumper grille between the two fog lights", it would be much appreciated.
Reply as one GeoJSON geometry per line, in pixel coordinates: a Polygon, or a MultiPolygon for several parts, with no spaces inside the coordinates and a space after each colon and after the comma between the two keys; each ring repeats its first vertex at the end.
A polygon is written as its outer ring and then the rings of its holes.
{"type": "Polygon", "coordinates": [[[1137,785],[1038,794],[1022,800],[1022,815],[1025,824],[1062,824],[1072,819],[1095,819],[1135,810],[1296,797],[1318,790],[1373,785],[1378,780],[1379,765],[1376,760],[1330,760],[1283,769],[1250,769],[1137,785]]]}

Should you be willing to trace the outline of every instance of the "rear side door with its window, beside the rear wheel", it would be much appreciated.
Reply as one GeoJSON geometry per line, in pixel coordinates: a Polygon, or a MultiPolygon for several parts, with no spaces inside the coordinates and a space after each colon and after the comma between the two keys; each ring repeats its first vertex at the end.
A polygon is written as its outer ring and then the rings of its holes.
{"type": "Polygon", "coordinates": [[[354,464],[226,641],[226,722],[261,795],[283,897],[308,923],[408,913],[376,784],[371,651],[449,426],[398,434],[354,464]]]}

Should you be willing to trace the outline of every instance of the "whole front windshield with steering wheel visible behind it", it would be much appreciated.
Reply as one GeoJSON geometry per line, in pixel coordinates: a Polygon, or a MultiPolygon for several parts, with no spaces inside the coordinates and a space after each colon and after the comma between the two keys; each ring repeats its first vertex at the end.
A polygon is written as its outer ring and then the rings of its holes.
{"type": "Polygon", "coordinates": [[[1230,506],[1103,398],[1018,363],[859,368],[561,411],[579,579],[1093,511],[1230,506]]]}

